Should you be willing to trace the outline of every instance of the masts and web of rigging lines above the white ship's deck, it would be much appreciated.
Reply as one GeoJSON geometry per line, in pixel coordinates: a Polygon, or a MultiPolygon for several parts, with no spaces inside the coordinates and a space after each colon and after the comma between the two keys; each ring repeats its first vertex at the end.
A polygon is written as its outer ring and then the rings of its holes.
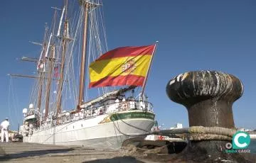
{"type": "MultiPolygon", "coordinates": [[[[36,58],[31,57],[21,59],[37,62],[38,73],[36,76],[10,74],[12,77],[36,79],[30,103],[33,103],[37,111],[45,114],[46,117],[48,111],[52,115],[58,114],[62,108],[74,108],[74,106],[80,106],[89,100],[86,89],[89,77],[85,75],[87,67],[83,64],[89,64],[107,51],[102,9],[95,10],[100,4],[80,1],[80,5],[82,7],[75,11],[75,9],[68,8],[68,0],[65,0],[63,9],[52,7],[54,9],[53,21],[50,29],[46,26],[43,43],[31,42],[42,46],[39,59],[37,61],[36,58]],[[69,13],[72,11],[75,11],[75,14],[69,13]],[[69,17],[71,15],[75,16],[69,17]],[[87,30],[87,27],[90,28],[87,30]],[[81,33],[84,33],[83,38],[80,36],[81,33]],[[88,41],[86,42],[86,40],[88,41]],[[81,45],[82,49],[80,48],[81,45]],[[85,49],[86,45],[87,50],[85,49]],[[85,52],[88,53],[88,57],[85,56],[85,52]],[[79,72],[80,74],[78,74],[79,72]]],[[[107,91],[110,90],[107,88],[98,89],[98,96],[107,93],[107,91]]]]}

